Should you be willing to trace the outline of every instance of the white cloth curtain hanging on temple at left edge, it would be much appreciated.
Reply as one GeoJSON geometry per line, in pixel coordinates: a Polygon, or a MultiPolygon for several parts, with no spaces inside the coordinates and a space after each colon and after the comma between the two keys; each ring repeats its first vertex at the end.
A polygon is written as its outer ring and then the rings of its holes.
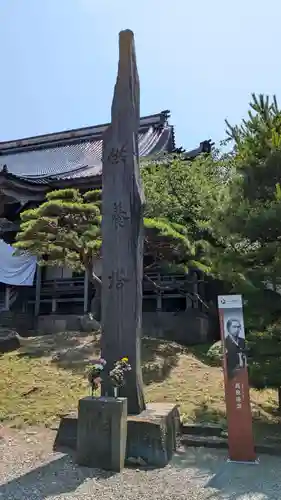
{"type": "Polygon", "coordinates": [[[15,249],[0,240],[0,282],[7,285],[32,286],[36,257],[27,253],[14,255],[15,249]]]}

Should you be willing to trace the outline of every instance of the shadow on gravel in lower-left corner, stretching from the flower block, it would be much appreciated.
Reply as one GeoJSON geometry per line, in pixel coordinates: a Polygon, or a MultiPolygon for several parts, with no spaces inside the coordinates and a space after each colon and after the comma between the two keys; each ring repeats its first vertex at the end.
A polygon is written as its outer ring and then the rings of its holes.
{"type": "Polygon", "coordinates": [[[70,455],[65,455],[1,485],[0,498],[44,500],[71,493],[88,479],[106,480],[113,475],[112,472],[79,467],[70,455]]]}

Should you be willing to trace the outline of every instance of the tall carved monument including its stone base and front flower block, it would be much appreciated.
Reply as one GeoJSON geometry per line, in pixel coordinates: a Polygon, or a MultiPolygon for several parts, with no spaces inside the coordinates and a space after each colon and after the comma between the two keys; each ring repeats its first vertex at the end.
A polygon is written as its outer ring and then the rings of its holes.
{"type": "Polygon", "coordinates": [[[109,370],[129,358],[124,387],[115,397],[104,379],[102,397],[79,401],[77,461],[121,470],[130,463],[165,466],[177,442],[174,404],[145,406],[141,371],[143,208],[138,130],[140,88],[134,35],[119,34],[119,65],[111,125],[103,137],[102,357],[109,370]],[[137,461],[137,462],[136,462],[137,461]]]}

